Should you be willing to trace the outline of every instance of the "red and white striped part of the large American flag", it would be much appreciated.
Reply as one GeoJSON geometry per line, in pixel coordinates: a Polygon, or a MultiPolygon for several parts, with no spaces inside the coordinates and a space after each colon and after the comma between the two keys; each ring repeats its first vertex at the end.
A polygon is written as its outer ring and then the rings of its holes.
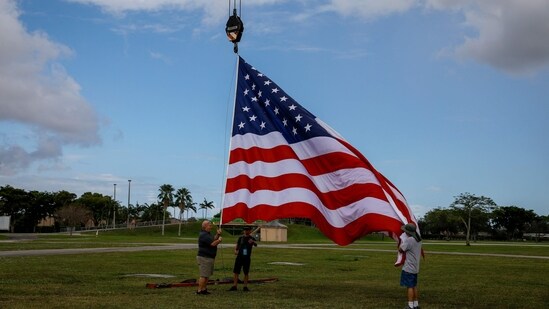
{"type": "Polygon", "coordinates": [[[222,223],[309,218],[330,239],[347,245],[376,231],[401,234],[415,222],[402,194],[368,160],[333,137],[288,144],[279,132],[231,138],[222,223]]]}

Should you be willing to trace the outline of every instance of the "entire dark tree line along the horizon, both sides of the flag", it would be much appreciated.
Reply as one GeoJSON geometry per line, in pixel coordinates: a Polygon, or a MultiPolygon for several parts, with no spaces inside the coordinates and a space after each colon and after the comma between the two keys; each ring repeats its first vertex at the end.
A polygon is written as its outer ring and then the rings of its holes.
{"type": "MultiPolygon", "coordinates": [[[[80,197],[68,191],[26,191],[6,185],[0,187],[0,216],[10,216],[12,232],[49,232],[61,228],[80,227],[91,223],[95,227],[131,226],[136,223],[164,224],[171,213],[168,207],[179,208],[179,221],[187,220],[190,212],[202,210],[202,217],[214,208],[204,198],[198,204],[187,188],[175,189],[163,184],[158,189],[156,203],[121,205],[111,196],[86,192],[80,197]],[[54,218],[53,227],[40,227],[39,223],[54,218]]],[[[489,197],[462,193],[448,207],[428,211],[419,220],[422,237],[426,239],[464,238],[469,245],[479,237],[501,240],[529,238],[536,240],[549,235],[549,216],[518,206],[498,206],[489,197]]]]}

